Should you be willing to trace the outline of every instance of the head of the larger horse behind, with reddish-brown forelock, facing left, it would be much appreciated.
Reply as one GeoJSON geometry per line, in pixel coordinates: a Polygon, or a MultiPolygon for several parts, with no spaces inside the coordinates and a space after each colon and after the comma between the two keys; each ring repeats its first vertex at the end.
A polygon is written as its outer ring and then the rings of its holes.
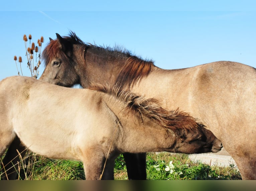
{"type": "Polygon", "coordinates": [[[62,38],[56,33],[56,40],[50,38],[42,53],[45,69],[39,80],[65,87],[79,84],[77,61],[73,50],[80,39],[72,34],[71,37],[62,38]]]}

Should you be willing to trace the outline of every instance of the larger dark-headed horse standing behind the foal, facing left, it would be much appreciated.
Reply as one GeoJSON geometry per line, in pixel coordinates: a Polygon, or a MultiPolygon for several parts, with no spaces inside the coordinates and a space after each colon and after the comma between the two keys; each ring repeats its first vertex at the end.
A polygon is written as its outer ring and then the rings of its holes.
{"type": "MultiPolygon", "coordinates": [[[[190,113],[222,141],[242,178],[256,179],[255,68],[220,61],[163,70],[126,50],[86,44],[75,33],[64,38],[57,34],[44,49],[43,58],[42,81],[83,88],[107,82],[160,99],[165,108],[179,107],[190,113]]],[[[124,156],[129,178],[145,179],[145,155],[124,156]]]]}

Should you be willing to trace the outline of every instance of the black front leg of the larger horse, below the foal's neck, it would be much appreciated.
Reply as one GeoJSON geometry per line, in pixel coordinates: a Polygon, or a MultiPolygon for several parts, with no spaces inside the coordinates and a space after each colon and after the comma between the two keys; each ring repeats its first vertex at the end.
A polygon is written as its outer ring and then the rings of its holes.
{"type": "Polygon", "coordinates": [[[146,153],[123,153],[129,180],[146,180],[146,153]]]}

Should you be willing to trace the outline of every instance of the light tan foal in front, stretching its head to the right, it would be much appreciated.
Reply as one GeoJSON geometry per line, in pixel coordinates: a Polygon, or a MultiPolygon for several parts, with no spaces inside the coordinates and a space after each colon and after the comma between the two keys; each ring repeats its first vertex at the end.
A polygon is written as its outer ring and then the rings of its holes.
{"type": "Polygon", "coordinates": [[[123,152],[217,152],[222,144],[187,113],[118,89],[71,89],[14,76],[0,82],[0,156],[17,136],[31,151],[80,160],[87,180],[114,178],[123,152]],[[141,141],[143,140],[143,141],[141,141]]]}

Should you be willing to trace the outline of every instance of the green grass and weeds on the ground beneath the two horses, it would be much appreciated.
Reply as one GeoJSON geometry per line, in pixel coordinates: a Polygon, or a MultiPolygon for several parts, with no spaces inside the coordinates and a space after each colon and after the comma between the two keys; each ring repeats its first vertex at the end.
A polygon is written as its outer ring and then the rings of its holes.
{"type": "MultiPolygon", "coordinates": [[[[83,164],[71,160],[51,160],[28,153],[28,163],[21,165],[20,179],[23,180],[84,180],[83,164]]],[[[241,180],[234,165],[228,167],[209,166],[192,162],[186,154],[161,152],[147,154],[148,180],[241,180]],[[172,162],[170,162],[172,161],[172,162]]],[[[116,180],[127,180],[123,155],[116,159],[116,180]]]]}

